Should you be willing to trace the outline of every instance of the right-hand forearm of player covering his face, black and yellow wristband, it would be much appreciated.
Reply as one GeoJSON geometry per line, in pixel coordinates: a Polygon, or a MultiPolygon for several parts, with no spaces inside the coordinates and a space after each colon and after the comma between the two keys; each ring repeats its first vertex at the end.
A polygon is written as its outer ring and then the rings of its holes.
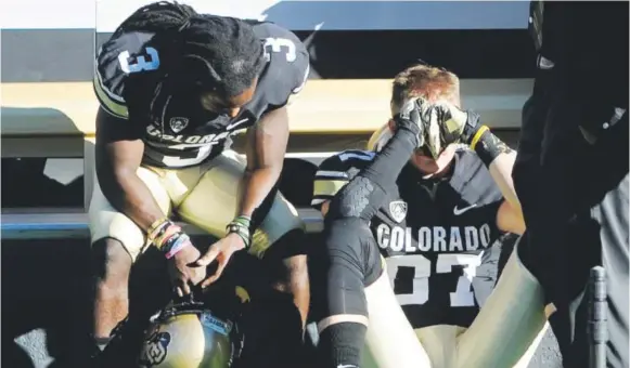
{"type": "Polygon", "coordinates": [[[490,130],[486,130],[478,140],[473,140],[471,147],[477,153],[481,161],[490,171],[490,175],[501,189],[503,198],[512,208],[522,213],[520,201],[514,189],[512,170],[516,160],[516,152],[510,148],[503,141],[490,130]]]}

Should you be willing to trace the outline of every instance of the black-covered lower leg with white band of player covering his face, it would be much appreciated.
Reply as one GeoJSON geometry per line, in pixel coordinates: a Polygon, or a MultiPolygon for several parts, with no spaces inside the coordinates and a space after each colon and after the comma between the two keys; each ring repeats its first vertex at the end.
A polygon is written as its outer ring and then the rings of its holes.
{"type": "Polygon", "coordinates": [[[370,270],[369,249],[363,247],[371,237],[360,219],[331,221],[322,242],[309,253],[312,312],[319,332],[317,367],[360,367],[368,329],[364,281],[370,270]]]}

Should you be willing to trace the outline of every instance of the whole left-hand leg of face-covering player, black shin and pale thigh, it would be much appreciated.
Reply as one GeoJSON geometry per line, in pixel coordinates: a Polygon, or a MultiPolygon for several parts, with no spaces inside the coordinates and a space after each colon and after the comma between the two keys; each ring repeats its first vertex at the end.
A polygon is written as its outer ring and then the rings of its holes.
{"type": "Polygon", "coordinates": [[[356,218],[331,221],[323,237],[310,257],[323,359],[318,367],[422,367],[416,359],[422,346],[391,291],[368,224],[356,218]]]}

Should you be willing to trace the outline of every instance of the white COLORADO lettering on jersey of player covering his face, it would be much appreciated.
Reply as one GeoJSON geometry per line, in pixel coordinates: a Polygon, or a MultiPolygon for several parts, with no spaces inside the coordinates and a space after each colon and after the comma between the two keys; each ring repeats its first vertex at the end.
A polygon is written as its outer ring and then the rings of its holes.
{"type": "Polygon", "coordinates": [[[488,248],[490,225],[481,226],[422,226],[415,234],[411,227],[380,224],[376,227],[378,247],[406,252],[463,252],[488,248]],[[415,241],[417,239],[417,241],[415,241]]]}

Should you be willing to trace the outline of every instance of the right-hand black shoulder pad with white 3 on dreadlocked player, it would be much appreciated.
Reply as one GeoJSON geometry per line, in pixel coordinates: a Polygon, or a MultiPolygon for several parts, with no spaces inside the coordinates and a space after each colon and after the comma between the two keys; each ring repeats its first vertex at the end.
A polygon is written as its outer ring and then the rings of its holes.
{"type": "Polygon", "coordinates": [[[247,109],[260,118],[301,91],[309,74],[309,54],[297,36],[273,23],[257,23],[254,31],[263,44],[267,67],[247,109]]]}

